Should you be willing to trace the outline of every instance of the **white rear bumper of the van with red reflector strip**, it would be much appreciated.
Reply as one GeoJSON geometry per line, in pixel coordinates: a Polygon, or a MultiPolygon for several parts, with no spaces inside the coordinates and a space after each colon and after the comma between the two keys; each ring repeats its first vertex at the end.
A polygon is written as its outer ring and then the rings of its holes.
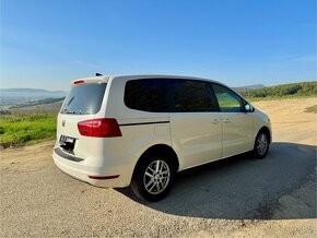
{"type": "Polygon", "coordinates": [[[67,154],[64,156],[57,150],[59,148],[54,148],[52,151],[52,158],[56,166],[73,178],[77,178],[81,181],[87,182],[96,187],[122,188],[130,185],[133,168],[129,165],[94,167],[90,165],[89,158],[84,160],[72,160],[70,159],[71,156],[67,154]],[[92,179],[90,178],[90,176],[93,178],[106,177],[106,179],[92,179]]]}

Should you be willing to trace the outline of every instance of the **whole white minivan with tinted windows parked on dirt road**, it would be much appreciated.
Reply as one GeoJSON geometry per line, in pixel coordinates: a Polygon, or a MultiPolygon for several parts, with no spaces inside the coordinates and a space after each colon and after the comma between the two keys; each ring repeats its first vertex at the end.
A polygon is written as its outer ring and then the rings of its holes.
{"type": "Polygon", "coordinates": [[[269,117],[222,83],[174,75],[71,82],[57,120],[55,164],[97,187],[163,199],[176,172],[269,150],[269,117]]]}

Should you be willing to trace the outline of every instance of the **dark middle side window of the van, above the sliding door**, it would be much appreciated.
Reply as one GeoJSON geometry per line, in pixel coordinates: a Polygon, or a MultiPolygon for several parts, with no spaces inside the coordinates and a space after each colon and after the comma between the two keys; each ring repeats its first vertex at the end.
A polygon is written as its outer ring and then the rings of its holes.
{"type": "Polygon", "coordinates": [[[214,110],[208,82],[174,79],[171,81],[171,93],[174,112],[214,110]]]}

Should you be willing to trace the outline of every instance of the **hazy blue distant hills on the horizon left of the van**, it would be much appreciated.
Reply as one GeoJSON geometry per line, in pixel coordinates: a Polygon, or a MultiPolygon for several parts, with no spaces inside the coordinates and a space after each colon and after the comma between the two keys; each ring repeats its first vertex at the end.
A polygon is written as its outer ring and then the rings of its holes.
{"type": "Polygon", "coordinates": [[[47,91],[43,88],[0,88],[0,105],[28,104],[45,98],[61,98],[63,91],[47,91]]]}

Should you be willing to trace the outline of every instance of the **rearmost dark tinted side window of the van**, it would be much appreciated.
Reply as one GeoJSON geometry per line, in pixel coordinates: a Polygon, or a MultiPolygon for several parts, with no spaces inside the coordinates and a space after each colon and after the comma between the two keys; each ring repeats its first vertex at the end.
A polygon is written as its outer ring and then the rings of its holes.
{"type": "Polygon", "coordinates": [[[167,112],[165,82],[167,81],[164,79],[128,81],[125,91],[126,106],[137,110],[167,112]]]}

